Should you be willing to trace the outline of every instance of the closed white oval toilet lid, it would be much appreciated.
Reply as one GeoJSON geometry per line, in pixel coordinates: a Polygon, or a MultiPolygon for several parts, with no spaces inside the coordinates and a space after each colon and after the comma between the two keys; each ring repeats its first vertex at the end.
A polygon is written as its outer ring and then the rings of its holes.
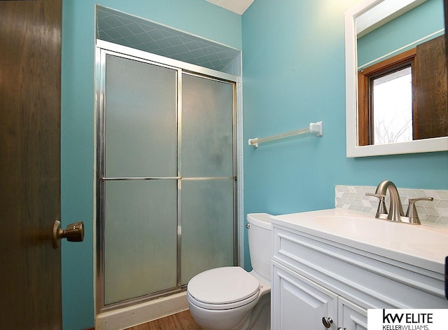
{"type": "Polygon", "coordinates": [[[256,294],[260,282],[240,267],[206,270],[188,282],[188,292],[195,300],[209,304],[242,301],[256,294]]]}

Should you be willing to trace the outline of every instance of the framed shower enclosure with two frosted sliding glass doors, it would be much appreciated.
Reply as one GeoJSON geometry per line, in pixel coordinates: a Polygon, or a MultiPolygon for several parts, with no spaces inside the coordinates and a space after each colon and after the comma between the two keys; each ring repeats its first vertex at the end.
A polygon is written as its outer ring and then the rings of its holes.
{"type": "Polygon", "coordinates": [[[97,312],[237,264],[236,85],[97,41],[97,312]]]}

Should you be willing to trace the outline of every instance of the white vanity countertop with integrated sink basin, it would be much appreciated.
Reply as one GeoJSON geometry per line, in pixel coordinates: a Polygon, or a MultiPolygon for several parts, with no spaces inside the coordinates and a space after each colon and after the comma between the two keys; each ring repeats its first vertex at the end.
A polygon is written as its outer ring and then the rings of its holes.
{"type": "Polygon", "coordinates": [[[344,209],[274,216],[274,224],[379,256],[437,268],[448,253],[448,228],[437,224],[412,225],[376,219],[374,215],[344,209]]]}

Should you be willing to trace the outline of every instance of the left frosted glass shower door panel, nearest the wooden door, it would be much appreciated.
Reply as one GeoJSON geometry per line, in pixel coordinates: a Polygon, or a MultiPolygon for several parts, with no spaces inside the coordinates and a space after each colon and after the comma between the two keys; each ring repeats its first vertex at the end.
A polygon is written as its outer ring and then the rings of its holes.
{"type": "Polygon", "coordinates": [[[177,284],[177,74],[106,55],[105,305],[177,284]]]}

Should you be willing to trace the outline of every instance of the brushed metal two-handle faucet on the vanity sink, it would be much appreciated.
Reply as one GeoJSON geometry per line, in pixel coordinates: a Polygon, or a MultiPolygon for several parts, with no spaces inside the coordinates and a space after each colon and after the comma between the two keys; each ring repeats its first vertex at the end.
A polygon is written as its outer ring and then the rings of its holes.
{"type": "Polygon", "coordinates": [[[387,219],[388,221],[405,222],[407,224],[416,225],[420,224],[420,219],[419,214],[417,214],[415,202],[419,200],[434,200],[432,197],[409,198],[409,207],[405,215],[403,213],[398,189],[391,180],[381,181],[377,186],[377,190],[375,191],[375,193],[365,193],[365,195],[373,196],[379,199],[379,205],[375,218],[387,219]],[[384,198],[386,198],[387,191],[389,191],[389,195],[391,196],[389,212],[387,212],[386,205],[384,203],[384,198]]]}

